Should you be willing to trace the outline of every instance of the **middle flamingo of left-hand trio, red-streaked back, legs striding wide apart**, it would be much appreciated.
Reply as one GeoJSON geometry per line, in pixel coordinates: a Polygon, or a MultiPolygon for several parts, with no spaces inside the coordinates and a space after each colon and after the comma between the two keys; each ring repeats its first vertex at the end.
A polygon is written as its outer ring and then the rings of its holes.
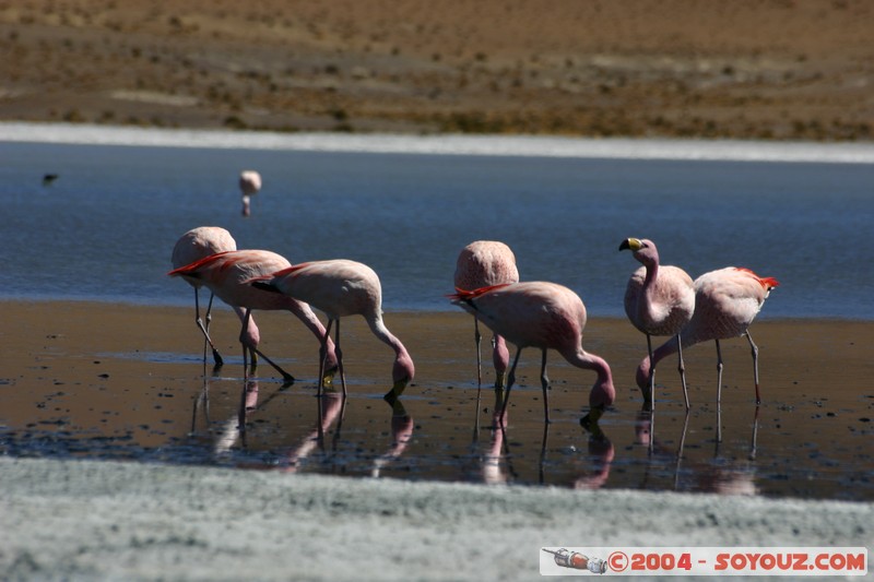
{"type": "Polygon", "coordinates": [[[287,266],[291,266],[291,263],[275,252],[268,250],[235,250],[212,254],[179,269],[174,269],[167,274],[194,278],[229,305],[243,322],[239,341],[243,344],[244,367],[246,366],[248,349],[251,353],[252,367],[257,364],[257,356],[261,356],[282,375],[286,382],[293,382],[294,377],[258,351],[260,333],[255,324],[251,311],[252,309],[287,309],[294,313],[319,338],[321,344],[320,359],[322,360],[322,367],[319,369],[319,385],[321,385],[326,380],[326,373],[328,373],[330,381],[332,370],[336,366],[336,355],[334,354],[333,344],[330,341],[322,341],[326,331],[319,318],[304,302],[291,297],[264,293],[247,284],[248,280],[252,277],[273,273],[287,266]],[[324,371],[324,361],[330,363],[328,370],[331,371],[324,371]]]}

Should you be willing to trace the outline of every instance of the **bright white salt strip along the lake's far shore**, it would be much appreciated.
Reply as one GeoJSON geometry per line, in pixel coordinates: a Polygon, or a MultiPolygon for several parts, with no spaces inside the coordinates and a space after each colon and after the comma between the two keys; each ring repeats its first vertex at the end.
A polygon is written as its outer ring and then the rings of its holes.
{"type": "Polygon", "coordinates": [[[347,134],[0,121],[0,142],[363,154],[874,164],[874,141],[390,132],[347,134]]]}

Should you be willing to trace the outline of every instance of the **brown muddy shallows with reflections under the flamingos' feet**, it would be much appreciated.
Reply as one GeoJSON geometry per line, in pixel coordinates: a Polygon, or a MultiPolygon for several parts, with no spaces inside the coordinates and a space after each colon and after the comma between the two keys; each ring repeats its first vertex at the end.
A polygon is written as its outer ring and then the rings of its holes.
{"type": "MultiPolygon", "coordinates": [[[[39,304],[25,309],[34,312],[39,304]]],[[[308,357],[315,356],[315,345],[299,325],[287,329],[287,316],[259,320],[263,348],[298,377],[283,388],[263,364],[253,379],[244,380],[232,316],[213,322],[226,364],[212,370],[191,352],[200,338],[188,309],[155,313],[154,308],[115,306],[104,316],[104,321],[118,322],[108,338],[75,332],[95,308],[73,304],[67,311],[68,320],[74,320],[69,330],[46,314],[34,322],[29,333],[43,344],[35,357],[3,356],[3,454],[874,500],[870,323],[756,323],[759,407],[753,402],[744,340],[723,343],[725,388],[719,408],[713,402],[714,351],[696,346],[685,353],[689,415],[676,371],[664,366],[657,377],[658,408],[650,416],[641,409],[640,392],[631,388],[646,342],[622,320],[591,321],[588,348],[609,359],[617,388],[616,403],[600,424],[603,433],[593,435],[579,419],[594,378],[555,355],[548,368],[552,423],[544,424],[536,352],[523,354],[506,428],[494,429],[493,372],[484,368],[477,413],[471,322],[461,313],[391,314],[389,324],[414,355],[417,370],[401,405],[392,407],[382,400],[390,355],[354,319],[344,326],[350,392],[344,405],[335,391],[315,397],[308,357]],[[123,330],[138,322],[150,328],[126,336],[123,330]],[[836,348],[840,358],[829,355],[836,348]],[[798,354],[804,354],[803,361],[798,354]],[[240,421],[244,399],[248,411],[240,421]]]]}

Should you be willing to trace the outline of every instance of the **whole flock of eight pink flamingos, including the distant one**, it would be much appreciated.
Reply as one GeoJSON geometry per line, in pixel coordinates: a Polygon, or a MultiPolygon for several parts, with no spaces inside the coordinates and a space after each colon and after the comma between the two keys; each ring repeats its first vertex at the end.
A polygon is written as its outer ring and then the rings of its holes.
{"type": "MultiPolygon", "coordinates": [[[[261,178],[258,173],[247,170],[240,175],[239,183],[244,192],[244,215],[249,216],[250,197],[260,189],[261,178]]],[[[693,280],[678,266],[661,264],[656,244],[645,238],[622,240],[619,251],[623,250],[630,250],[641,264],[628,280],[624,306],[630,323],[647,337],[647,354],[635,376],[643,395],[645,409],[654,409],[657,365],[674,353],[678,355],[677,369],[686,411],[689,409],[683,349],[711,340],[717,348],[719,403],[723,369],[720,341],[737,336],[745,336],[752,349],[755,397],[759,404],[758,347],[748,328],[770,290],[779,285],[777,280],[760,277],[748,269],[735,266],[710,271],[693,280]],[[668,340],[653,349],[653,336],[666,336],[668,340]]],[[[374,336],[394,353],[391,387],[385,395],[386,401],[397,405],[415,377],[412,356],[382,319],[379,276],[366,264],[346,259],[292,264],[269,250],[239,250],[231,234],[215,226],[201,226],[185,233],[173,249],[172,263],[173,270],[168,275],[182,277],[194,289],[194,321],[204,338],[204,365],[208,346],[212,349],[215,367],[224,364],[210,336],[213,297],[218,297],[231,306],[241,322],[239,342],[246,375],[255,370],[260,356],[287,384],[294,382],[291,373],[260,351],[260,331],[252,316],[255,310],[287,310],[318,342],[319,395],[336,372],[340,373],[343,397],[347,394],[340,323],[342,318],[350,316],[363,317],[374,336]],[[201,287],[211,293],[205,323],[200,314],[201,287]],[[327,325],[322,324],[314,308],[324,313],[327,325]],[[251,360],[250,367],[247,359],[251,360]]],[[[507,245],[476,240],[459,253],[454,293],[448,297],[474,317],[477,387],[482,384],[480,323],[493,332],[495,389],[503,402],[500,413],[495,411],[496,423],[503,425],[506,419],[522,349],[531,347],[541,353],[544,423],[550,423],[547,354],[555,351],[570,365],[594,372],[595,381],[589,391],[589,411],[580,424],[598,432],[598,421],[613,405],[616,388],[607,361],[583,347],[587,311],[574,290],[554,282],[520,281],[516,257],[507,245]],[[516,347],[512,365],[507,344],[516,347]]]]}

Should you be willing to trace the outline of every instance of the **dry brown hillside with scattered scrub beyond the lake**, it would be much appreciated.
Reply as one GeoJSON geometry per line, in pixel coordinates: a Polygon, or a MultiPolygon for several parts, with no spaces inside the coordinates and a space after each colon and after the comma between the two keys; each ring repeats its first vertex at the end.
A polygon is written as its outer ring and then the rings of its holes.
{"type": "Polygon", "coordinates": [[[0,4],[0,119],[871,140],[866,0],[0,4]]]}

